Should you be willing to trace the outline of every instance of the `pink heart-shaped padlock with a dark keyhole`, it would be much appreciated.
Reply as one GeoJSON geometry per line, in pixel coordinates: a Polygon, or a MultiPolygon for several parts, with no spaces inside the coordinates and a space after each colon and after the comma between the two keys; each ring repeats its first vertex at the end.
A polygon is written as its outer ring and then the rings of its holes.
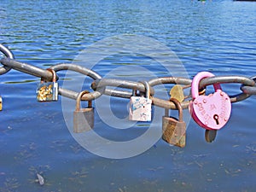
{"type": "Polygon", "coordinates": [[[220,84],[213,84],[215,92],[208,96],[199,96],[201,79],[214,76],[209,72],[201,72],[192,80],[189,111],[198,125],[207,130],[219,130],[228,122],[231,113],[230,97],[221,90],[220,84]]]}

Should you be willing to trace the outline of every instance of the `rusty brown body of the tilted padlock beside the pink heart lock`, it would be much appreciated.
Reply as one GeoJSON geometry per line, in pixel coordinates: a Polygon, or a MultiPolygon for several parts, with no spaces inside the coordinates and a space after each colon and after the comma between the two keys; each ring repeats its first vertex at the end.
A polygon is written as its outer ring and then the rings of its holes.
{"type": "Polygon", "coordinates": [[[183,148],[186,145],[186,124],[172,117],[162,118],[162,139],[167,143],[183,148]]]}

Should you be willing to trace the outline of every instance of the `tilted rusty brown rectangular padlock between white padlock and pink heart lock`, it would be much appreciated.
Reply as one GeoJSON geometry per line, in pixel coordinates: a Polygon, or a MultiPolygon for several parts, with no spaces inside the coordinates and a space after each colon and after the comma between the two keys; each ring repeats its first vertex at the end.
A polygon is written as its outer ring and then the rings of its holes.
{"type": "Polygon", "coordinates": [[[186,123],[183,121],[183,108],[175,98],[171,98],[170,102],[174,102],[177,107],[178,119],[169,117],[169,110],[166,109],[166,114],[162,118],[162,139],[183,148],[186,145],[186,123]]]}

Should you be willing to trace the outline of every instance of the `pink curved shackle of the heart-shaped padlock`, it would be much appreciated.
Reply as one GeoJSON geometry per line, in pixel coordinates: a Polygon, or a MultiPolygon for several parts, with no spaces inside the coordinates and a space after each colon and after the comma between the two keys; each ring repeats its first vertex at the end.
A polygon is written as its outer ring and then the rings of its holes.
{"type": "MultiPolygon", "coordinates": [[[[214,74],[210,73],[210,72],[201,72],[201,73],[197,73],[194,77],[194,79],[192,80],[192,84],[191,84],[191,95],[192,98],[195,99],[196,96],[199,96],[199,84],[201,79],[205,79],[205,78],[210,78],[215,76],[214,74]]],[[[221,90],[221,86],[220,84],[213,84],[214,90],[221,90]]]]}

